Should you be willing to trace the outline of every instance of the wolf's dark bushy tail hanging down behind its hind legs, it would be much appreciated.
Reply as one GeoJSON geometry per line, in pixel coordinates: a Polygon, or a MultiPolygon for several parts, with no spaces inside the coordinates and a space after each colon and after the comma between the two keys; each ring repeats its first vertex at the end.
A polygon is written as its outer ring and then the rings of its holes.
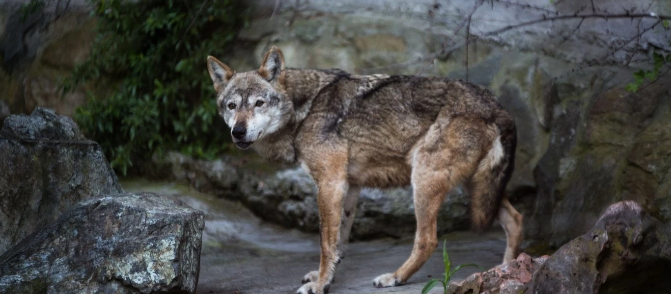
{"type": "Polygon", "coordinates": [[[491,227],[515,166],[517,130],[512,120],[497,122],[499,136],[480,161],[470,186],[471,222],[475,230],[491,227]]]}

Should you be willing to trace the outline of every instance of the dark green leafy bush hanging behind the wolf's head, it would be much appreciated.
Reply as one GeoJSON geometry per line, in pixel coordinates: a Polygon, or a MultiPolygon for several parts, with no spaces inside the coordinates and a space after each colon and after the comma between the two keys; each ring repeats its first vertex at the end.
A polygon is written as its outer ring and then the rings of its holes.
{"type": "Polygon", "coordinates": [[[112,167],[125,175],[134,163],[168,150],[214,157],[228,149],[205,60],[225,55],[244,25],[241,1],[89,2],[98,19],[97,37],[62,90],[112,85],[103,94],[95,87],[74,116],[112,167]]]}

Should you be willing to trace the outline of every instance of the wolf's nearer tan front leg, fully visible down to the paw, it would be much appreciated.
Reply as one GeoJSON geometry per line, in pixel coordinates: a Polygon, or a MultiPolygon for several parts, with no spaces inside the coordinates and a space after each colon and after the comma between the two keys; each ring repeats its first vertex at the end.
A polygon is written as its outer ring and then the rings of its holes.
{"type": "Polygon", "coordinates": [[[346,152],[333,151],[321,155],[314,161],[303,161],[317,184],[317,206],[319,208],[320,259],[317,275],[311,275],[309,283],[298,289],[299,294],[327,293],[340,263],[342,206],[348,192],[346,174],[346,152]]]}

